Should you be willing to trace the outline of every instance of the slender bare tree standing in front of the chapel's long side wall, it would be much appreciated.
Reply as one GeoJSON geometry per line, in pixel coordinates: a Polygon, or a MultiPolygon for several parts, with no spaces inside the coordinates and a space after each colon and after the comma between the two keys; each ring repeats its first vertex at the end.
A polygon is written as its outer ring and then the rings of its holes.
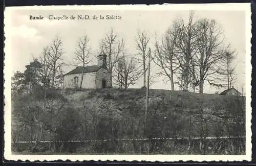
{"type": "Polygon", "coordinates": [[[79,38],[79,40],[76,43],[76,51],[75,51],[74,60],[76,61],[77,65],[82,64],[80,89],[82,88],[84,67],[86,67],[86,65],[91,62],[91,60],[89,59],[90,50],[89,50],[88,43],[89,43],[89,37],[87,35],[79,38]]]}

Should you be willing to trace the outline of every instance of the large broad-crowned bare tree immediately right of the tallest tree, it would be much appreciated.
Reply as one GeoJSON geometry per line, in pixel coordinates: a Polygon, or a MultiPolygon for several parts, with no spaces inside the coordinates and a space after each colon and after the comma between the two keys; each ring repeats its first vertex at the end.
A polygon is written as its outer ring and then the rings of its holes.
{"type": "Polygon", "coordinates": [[[222,29],[215,20],[200,19],[197,21],[197,48],[194,63],[199,73],[199,93],[203,93],[204,81],[214,81],[215,74],[221,69],[223,57],[222,29]]]}

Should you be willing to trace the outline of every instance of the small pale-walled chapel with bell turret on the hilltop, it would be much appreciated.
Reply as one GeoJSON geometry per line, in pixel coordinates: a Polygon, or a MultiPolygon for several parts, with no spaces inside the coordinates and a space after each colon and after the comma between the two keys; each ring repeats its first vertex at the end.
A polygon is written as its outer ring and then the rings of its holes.
{"type": "Polygon", "coordinates": [[[106,55],[98,55],[98,64],[86,66],[83,70],[82,66],[77,66],[63,77],[64,88],[77,88],[82,80],[82,88],[108,88],[110,84],[110,75],[106,68],[106,55]]]}

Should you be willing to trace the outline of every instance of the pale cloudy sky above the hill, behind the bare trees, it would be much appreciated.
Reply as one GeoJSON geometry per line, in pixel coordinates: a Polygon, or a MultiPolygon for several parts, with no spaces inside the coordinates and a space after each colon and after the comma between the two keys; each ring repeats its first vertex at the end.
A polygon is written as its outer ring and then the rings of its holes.
{"type": "MultiPolygon", "coordinates": [[[[139,29],[151,37],[150,44],[154,45],[154,35],[163,33],[172,25],[173,20],[178,17],[187,20],[188,10],[12,10],[9,12],[8,20],[5,23],[5,30],[8,43],[6,46],[11,49],[12,74],[17,70],[24,72],[26,65],[32,62],[33,57],[37,58],[42,54],[44,46],[50,44],[54,38],[59,36],[63,42],[63,59],[67,64],[72,62],[75,52],[75,44],[79,37],[87,35],[90,39],[92,65],[97,64],[95,55],[99,50],[99,40],[105,33],[113,28],[114,32],[125,42],[125,49],[128,53],[135,55],[136,33],[139,29]],[[115,15],[121,16],[119,20],[49,20],[49,15],[54,16],[77,16],[77,15],[115,15]],[[44,20],[30,20],[29,16],[43,16],[44,20]]],[[[225,42],[230,43],[231,48],[236,50],[237,57],[234,60],[236,66],[237,82],[234,84],[238,90],[245,88],[245,50],[246,50],[246,29],[245,12],[237,10],[196,10],[196,18],[215,19],[223,29],[225,42]]],[[[64,73],[68,73],[74,66],[63,67],[64,73]]],[[[153,64],[152,73],[159,70],[153,64]]],[[[164,78],[154,80],[151,88],[170,89],[170,83],[165,83],[164,78]]],[[[143,86],[143,79],[139,79],[134,88],[143,86]]],[[[176,90],[177,90],[176,86],[176,90]]],[[[204,93],[221,92],[224,89],[216,89],[205,84],[204,93]]]]}

